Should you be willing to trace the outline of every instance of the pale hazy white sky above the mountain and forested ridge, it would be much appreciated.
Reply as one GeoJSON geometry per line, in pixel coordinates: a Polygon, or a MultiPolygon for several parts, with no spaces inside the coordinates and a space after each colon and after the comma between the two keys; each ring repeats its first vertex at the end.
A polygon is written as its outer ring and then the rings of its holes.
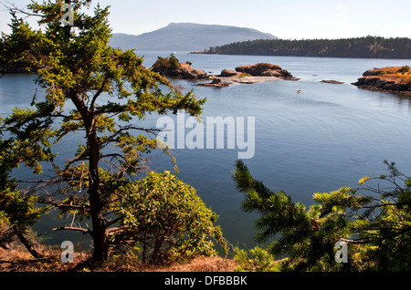
{"type": "MultiPolygon", "coordinates": [[[[30,2],[0,1],[21,7],[30,2]]],[[[93,3],[111,5],[114,33],[139,35],[170,22],[194,22],[250,27],[285,39],[411,37],[410,0],[95,0],[93,3]]],[[[3,5],[0,7],[0,30],[8,33],[10,17],[3,5]]]]}

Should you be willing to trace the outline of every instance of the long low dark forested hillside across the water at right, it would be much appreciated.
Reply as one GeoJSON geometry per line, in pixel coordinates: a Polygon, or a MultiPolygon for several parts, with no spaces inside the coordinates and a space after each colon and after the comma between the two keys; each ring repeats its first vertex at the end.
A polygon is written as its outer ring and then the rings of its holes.
{"type": "Polygon", "coordinates": [[[206,54],[290,57],[411,58],[410,38],[253,40],[210,47],[206,54]]]}

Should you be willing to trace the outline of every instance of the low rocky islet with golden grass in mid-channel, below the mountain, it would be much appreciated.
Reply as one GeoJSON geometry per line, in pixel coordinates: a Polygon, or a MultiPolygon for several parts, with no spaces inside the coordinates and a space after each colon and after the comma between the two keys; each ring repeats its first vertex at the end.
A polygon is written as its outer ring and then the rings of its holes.
{"type": "Polygon", "coordinates": [[[227,88],[233,83],[257,84],[278,79],[298,80],[289,71],[268,63],[240,66],[235,70],[226,68],[221,71],[220,75],[208,75],[203,69],[193,68],[189,62],[180,63],[173,54],[170,57],[158,57],[151,69],[167,78],[211,80],[211,82],[202,82],[196,86],[212,88],[227,88]]]}

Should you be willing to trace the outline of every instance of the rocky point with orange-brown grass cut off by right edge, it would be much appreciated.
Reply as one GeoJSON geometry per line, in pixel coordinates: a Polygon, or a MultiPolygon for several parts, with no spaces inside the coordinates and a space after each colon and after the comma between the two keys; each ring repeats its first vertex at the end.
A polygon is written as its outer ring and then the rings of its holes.
{"type": "Polygon", "coordinates": [[[411,68],[375,67],[365,71],[363,78],[358,78],[353,85],[374,91],[411,95],[411,68]]]}

